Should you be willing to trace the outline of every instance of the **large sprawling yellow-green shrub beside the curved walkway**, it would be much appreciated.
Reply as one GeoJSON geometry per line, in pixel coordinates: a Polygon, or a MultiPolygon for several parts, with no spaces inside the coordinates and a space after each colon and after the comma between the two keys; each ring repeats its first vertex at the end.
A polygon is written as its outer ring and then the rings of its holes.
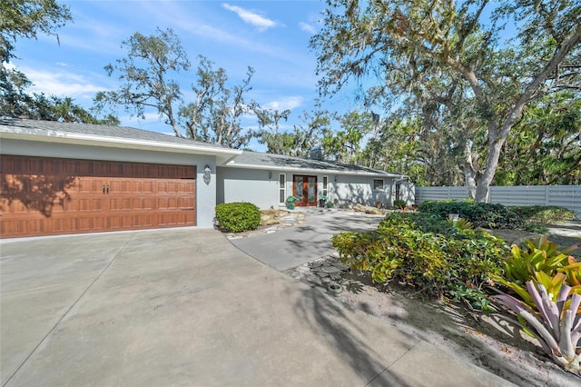
{"type": "Polygon", "coordinates": [[[500,272],[507,253],[502,239],[455,228],[429,213],[390,213],[375,232],[340,233],[331,241],[343,263],[369,271],[376,283],[397,279],[477,307],[487,305],[480,288],[500,272]]]}

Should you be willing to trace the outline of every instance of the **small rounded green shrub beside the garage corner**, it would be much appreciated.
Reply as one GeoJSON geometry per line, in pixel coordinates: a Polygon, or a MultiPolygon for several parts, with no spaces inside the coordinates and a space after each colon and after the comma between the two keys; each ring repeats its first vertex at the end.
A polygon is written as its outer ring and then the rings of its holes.
{"type": "Polygon", "coordinates": [[[261,211],[252,203],[222,203],[216,205],[220,227],[231,233],[256,230],[261,223],[261,211]]]}

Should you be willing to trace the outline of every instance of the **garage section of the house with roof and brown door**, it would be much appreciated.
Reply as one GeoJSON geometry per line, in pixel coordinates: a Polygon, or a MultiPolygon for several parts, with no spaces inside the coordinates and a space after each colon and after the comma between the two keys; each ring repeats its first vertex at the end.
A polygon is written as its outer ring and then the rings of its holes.
{"type": "Polygon", "coordinates": [[[0,119],[0,237],[212,227],[241,151],[129,127],[0,119]]]}

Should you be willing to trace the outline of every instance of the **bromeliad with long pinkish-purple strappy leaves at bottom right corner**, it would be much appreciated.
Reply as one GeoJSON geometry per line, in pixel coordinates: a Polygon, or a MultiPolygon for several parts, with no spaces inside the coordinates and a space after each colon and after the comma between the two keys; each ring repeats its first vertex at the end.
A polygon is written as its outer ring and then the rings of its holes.
{"type": "Polygon", "coordinates": [[[526,286],[537,311],[508,294],[494,296],[494,299],[527,323],[519,325],[527,332],[532,330],[556,364],[567,371],[581,373],[581,349],[577,349],[581,338],[581,295],[572,293],[570,286],[562,284],[553,300],[542,283],[528,281],[526,286]]]}

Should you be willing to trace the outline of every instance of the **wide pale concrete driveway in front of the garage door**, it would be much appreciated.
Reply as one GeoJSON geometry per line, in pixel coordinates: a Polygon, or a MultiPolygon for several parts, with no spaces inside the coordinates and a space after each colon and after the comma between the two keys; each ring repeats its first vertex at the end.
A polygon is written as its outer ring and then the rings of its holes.
{"type": "Polygon", "coordinates": [[[7,240],[3,386],[506,385],[213,230],[7,240]]]}

